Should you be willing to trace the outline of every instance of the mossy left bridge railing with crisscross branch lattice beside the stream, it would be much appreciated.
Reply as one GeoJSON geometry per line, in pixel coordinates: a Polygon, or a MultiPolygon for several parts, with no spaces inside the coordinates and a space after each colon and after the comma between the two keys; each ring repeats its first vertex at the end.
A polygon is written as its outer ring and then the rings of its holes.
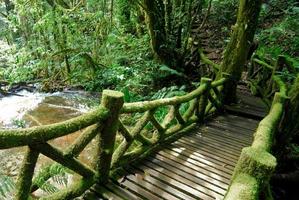
{"type": "Polygon", "coordinates": [[[41,199],[72,199],[94,183],[107,183],[109,176],[118,174],[123,166],[175,140],[197,122],[221,110],[221,90],[227,80],[227,75],[214,82],[202,78],[200,86],[184,96],[136,103],[124,103],[122,93],[105,90],[100,106],[82,116],[52,125],[0,130],[0,149],[21,146],[27,149],[17,178],[15,199],[31,199],[40,187],[36,177],[51,178],[47,170],[34,174],[40,154],[81,177],[67,189],[41,199]],[[162,117],[161,110],[166,111],[162,117]],[[79,130],[82,130],[80,136],[64,150],[49,143],[79,130]],[[78,157],[93,139],[98,150],[95,164],[90,166],[78,157]]]}

